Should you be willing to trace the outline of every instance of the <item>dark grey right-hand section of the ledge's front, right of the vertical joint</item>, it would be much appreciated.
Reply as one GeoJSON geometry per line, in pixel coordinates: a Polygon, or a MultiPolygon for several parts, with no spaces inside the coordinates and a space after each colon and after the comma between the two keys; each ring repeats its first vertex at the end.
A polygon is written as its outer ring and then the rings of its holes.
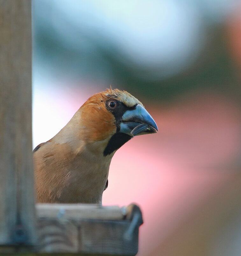
{"type": "Polygon", "coordinates": [[[136,255],[138,252],[138,229],[136,225],[131,237],[126,232],[131,221],[81,221],[79,251],[103,255],[136,255]]]}

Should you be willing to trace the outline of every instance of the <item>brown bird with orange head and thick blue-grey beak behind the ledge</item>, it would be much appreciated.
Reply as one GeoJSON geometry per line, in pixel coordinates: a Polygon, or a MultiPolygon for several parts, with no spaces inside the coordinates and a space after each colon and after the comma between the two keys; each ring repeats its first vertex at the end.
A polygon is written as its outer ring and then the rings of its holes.
{"type": "Polygon", "coordinates": [[[91,97],[52,139],[33,150],[37,203],[102,205],[114,153],[157,124],[130,93],[106,89],[91,97]]]}

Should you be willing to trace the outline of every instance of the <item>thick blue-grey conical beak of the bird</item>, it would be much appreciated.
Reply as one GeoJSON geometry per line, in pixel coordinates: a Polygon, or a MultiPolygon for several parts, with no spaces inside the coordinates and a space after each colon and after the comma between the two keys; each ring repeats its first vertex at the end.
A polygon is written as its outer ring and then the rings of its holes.
{"type": "Polygon", "coordinates": [[[152,116],[139,104],[133,110],[127,110],[122,116],[120,132],[130,136],[156,133],[157,125],[152,116]]]}

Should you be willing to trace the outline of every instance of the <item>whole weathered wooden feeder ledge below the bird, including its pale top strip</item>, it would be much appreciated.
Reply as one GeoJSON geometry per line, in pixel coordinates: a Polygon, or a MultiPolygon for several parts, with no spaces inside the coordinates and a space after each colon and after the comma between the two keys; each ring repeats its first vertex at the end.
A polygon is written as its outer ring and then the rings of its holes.
{"type": "Polygon", "coordinates": [[[39,204],[36,208],[38,252],[136,255],[138,251],[138,229],[142,224],[142,215],[136,205],[120,208],[39,204]]]}

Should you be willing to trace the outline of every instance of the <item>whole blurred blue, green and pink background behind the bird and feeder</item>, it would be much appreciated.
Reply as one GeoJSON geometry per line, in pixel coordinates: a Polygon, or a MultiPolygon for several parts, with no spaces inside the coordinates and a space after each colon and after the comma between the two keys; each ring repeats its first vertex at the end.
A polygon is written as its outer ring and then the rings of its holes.
{"type": "Polygon", "coordinates": [[[241,255],[240,82],[240,1],[33,0],[33,148],[110,85],[157,122],[103,193],[141,207],[139,256],[241,255]]]}

